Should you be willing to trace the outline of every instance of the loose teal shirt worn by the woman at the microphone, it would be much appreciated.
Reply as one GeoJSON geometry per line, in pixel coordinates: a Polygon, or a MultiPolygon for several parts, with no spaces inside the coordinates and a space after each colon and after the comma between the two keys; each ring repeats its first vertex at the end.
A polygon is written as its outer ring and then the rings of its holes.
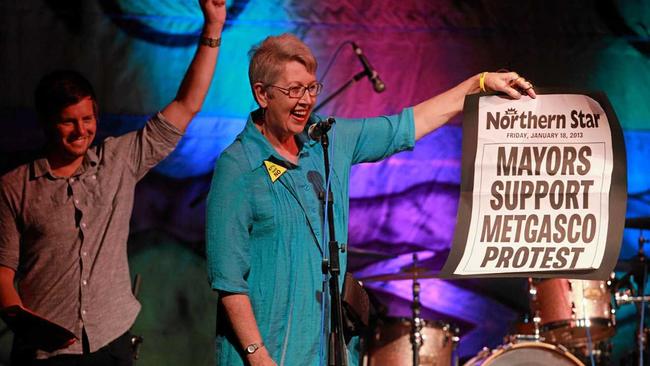
{"type": "MultiPolygon", "coordinates": [[[[314,116],[311,124],[319,117],[314,116]]],[[[219,157],[207,200],[206,251],[214,290],[248,294],[266,348],[278,365],[318,365],[323,275],[323,150],[297,136],[298,165],[283,159],[249,117],[219,157]],[[265,161],[287,168],[275,182],[265,161]]],[[[352,164],[412,149],[413,110],[393,116],[337,119],[328,133],[336,239],[348,238],[352,164]]],[[[346,255],[341,255],[345,273],[346,255]]],[[[342,277],[341,281],[342,283],[342,277]]],[[[225,319],[220,314],[220,320],[225,319]]],[[[243,365],[227,322],[218,324],[218,365],[243,365]],[[224,324],[225,323],[225,324],[224,324]]]]}

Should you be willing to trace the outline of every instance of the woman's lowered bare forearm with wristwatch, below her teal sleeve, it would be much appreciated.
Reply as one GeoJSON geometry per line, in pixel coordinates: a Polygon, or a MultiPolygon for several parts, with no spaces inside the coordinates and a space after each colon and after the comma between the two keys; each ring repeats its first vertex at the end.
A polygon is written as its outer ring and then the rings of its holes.
{"type": "MultiPolygon", "coordinates": [[[[219,298],[239,340],[241,349],[253,343],[262,343],[262,336],[257,327],[257,321],[248,295],[219,292],[219,298]]],[[[276,365],[266,347],[259,348],[253,354],[247,354],[246,358],[251,365],[276,365]]]]}

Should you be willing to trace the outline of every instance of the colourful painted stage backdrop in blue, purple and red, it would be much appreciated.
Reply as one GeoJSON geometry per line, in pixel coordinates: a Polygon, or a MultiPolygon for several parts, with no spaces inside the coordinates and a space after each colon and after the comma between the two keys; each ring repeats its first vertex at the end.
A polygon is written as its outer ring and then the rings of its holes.
{"type": "MultiPolygon", "coordinates": [[[[216,76],[203,111],[179,148],[140,183],[130,243],[144,277],[140,365],[210,364],[214,294],[204,270],[204,201],[219,153],[255,107],[247,53],[270,34],[293,32],[320,62],[323,96],[361,65],[357,42],[382,79],[376,94],[354,84],[322,113],[395,113],[484,70],[516,70],[535,85],[603,90],[624,128],[628,216],[650,215],[650,5],[643,1],[231,0],[216,76]]],[[[73,68],[95,85],[100,137],[136,129],[173,96],[196,47],[193,0],[6,0],[0,4],[0,163],[3,170],[42,143],[32,93],[44,73],[73,68]]],[[[322,99],[322,98],[321,98],[322,99]]],[[[439,269],[456,224],[460,119],[413,152],[354,168],[350,265],[358,277],[398,273],[418,253],[439,269]],[[356,251],[355,251],[356,250],[356,251]],[[371,254],[359,254],[361,251],[371,254]],[[385,259],[380,254],[389,254],[385,259]]],[[[636,252],[626,230],[621,258],[636,252]]],[[[410,282],[367,282],[393,316],[407,316],[410,282]]],[[[521,280],[423,280],[424,315],[457,324],[460,354],[501,343],[527,310],[521,280]]],[[[619,309],[615,357],[632,347],[634,310],[619,309]]],[[[2,359],[10,334],[2,333],[2,359]]]]}

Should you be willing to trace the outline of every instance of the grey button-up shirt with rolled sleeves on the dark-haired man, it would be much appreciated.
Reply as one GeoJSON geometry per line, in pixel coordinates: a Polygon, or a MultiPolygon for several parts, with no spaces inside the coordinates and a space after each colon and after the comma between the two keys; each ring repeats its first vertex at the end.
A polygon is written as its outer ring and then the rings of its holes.
{"type": "Polygon", "coordinates": [[[107,345],[135,321],[126,254],[135,185],[176,146],[182,133],[158,113],[141,130],[88,150],[71,177],[47,159],[0,178],[0,265],[16,270],[23,304],[79,339],[53,354],[107,345]]]}

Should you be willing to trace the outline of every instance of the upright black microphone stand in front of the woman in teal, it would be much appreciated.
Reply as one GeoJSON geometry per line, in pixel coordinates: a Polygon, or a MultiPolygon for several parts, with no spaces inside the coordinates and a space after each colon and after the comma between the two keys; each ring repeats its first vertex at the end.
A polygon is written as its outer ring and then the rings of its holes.
{"type": "MultiPolygon", "coordinates": [[[[327,133],[323,133],[320,138],[321,145],[323,146],[324,163],[325,163],[325,185],[329,181],[330,161],[328,154],[329,138],[327,133]]],[[[329,347],[328,347],[328,364],[333,366],[347,366],[347,352],[345,349],[345,340],[343,338],[343,307],[341,304],[341,292],[339,290],[339,274],[341,273],[341,266],[339,264],[339,243],[336,241],[334,234],[334,209],[332,204],[334,199],[332,197],[332,190],[328,187],[328,200],[327,200],[327,224],[329,229],[329,261],[323,261],[323,274],[329,272],[329,289],[331,296],[331,329],[329,334],[329,347]]],[[[320,193],[320,199],[325,205],[325,192],[320,193]]],[[[343,249],[341,249],[344,251],[343,249]]]]}

